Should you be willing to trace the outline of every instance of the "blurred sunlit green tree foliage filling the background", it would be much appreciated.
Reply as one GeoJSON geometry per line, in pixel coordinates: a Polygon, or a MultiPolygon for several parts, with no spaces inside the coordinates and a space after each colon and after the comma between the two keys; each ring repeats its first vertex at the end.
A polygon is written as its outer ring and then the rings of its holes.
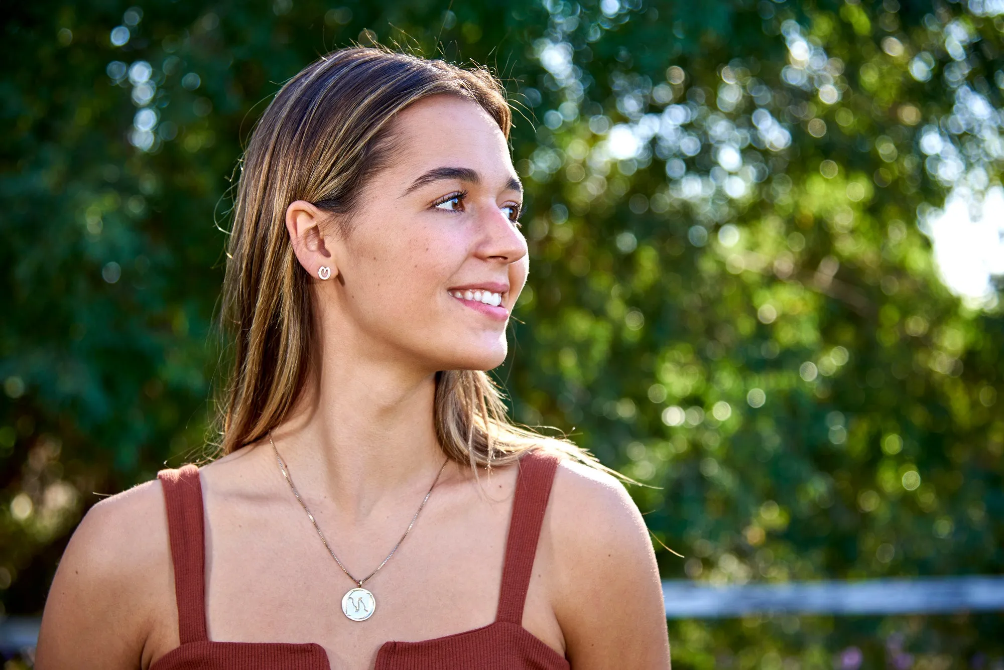
{"type": "MultiPolygon", "coordinates": [[[[282,81],[372,34],[426,55],[440,38],[513,93],[532,261],[500,377],[519,420],[655,486],[633,493],[688,557],[660,551],[665,577],[999,573],[1004,317],[942,286],[921,232],[950,189],[1000,184],[996,7],[11,8],[3,607],[40,611],[92,491],[201,449],[242,141],[282,81]]],[[[977,667],[1004,654],[995,626],[788,617],[670,634],[680,667],[823,667],[851,646],[868,667],[977,667]]]]}

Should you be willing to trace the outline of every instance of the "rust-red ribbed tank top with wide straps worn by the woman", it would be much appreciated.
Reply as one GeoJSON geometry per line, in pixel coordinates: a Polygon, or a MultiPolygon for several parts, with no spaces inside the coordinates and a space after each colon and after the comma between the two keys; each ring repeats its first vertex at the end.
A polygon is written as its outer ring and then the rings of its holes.
{"type": "MultiPolygon", "coordinates": [[[[519,459],[502,589],[495,621],[420,642],[385,642],[374,670],[569,670],[564,657],[522,626],[537,538],[558,456],[539,450],[519,459]]],[[[206,633],[202,486],[194,464],[158,472],[164,487],[178,599],[181,646],[150,670],[337,670],[313,642],[216,642],[206,633]]]]}

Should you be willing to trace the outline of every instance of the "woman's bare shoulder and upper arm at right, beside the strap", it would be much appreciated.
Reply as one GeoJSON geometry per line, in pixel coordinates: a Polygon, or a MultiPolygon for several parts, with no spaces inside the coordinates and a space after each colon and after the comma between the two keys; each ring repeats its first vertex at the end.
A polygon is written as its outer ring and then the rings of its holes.
{"type": "Polygon", "coordinates": [[[669,668],[656,555],[623,484],[566,460],[551,495],[554,611],[571,666],[669,668]]]}

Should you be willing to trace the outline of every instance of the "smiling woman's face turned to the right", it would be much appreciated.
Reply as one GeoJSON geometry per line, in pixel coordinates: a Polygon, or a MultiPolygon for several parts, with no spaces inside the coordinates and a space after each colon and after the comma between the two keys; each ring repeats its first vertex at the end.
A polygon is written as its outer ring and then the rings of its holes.
{"type": "Polygon", "coordinates": [[[330,257],[313,267],[298,252],[315,278],[333,265],[316,284],[322,327],[427,372],[491,369],[528,267],[505,136],[454,95],[420,100],[396,123],[401,153],[366,185],[348,235],[326,237],[330,257]]]}

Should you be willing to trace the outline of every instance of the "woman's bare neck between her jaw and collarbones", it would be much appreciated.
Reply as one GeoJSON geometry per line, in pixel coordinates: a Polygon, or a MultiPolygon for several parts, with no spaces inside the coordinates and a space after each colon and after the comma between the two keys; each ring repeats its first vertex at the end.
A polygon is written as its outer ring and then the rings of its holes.
{"type": "MultiPolygon", "coordinates": [[[[415,499],[446,459],[433,418],[435,373],[359,354],[325,352],[290,418],[272,433],[300,492],[330,499],[350,522],[365,521],[382,501],[415,499]]],[[[453,469],[448,464],[439,481],[453,469]]]]}

